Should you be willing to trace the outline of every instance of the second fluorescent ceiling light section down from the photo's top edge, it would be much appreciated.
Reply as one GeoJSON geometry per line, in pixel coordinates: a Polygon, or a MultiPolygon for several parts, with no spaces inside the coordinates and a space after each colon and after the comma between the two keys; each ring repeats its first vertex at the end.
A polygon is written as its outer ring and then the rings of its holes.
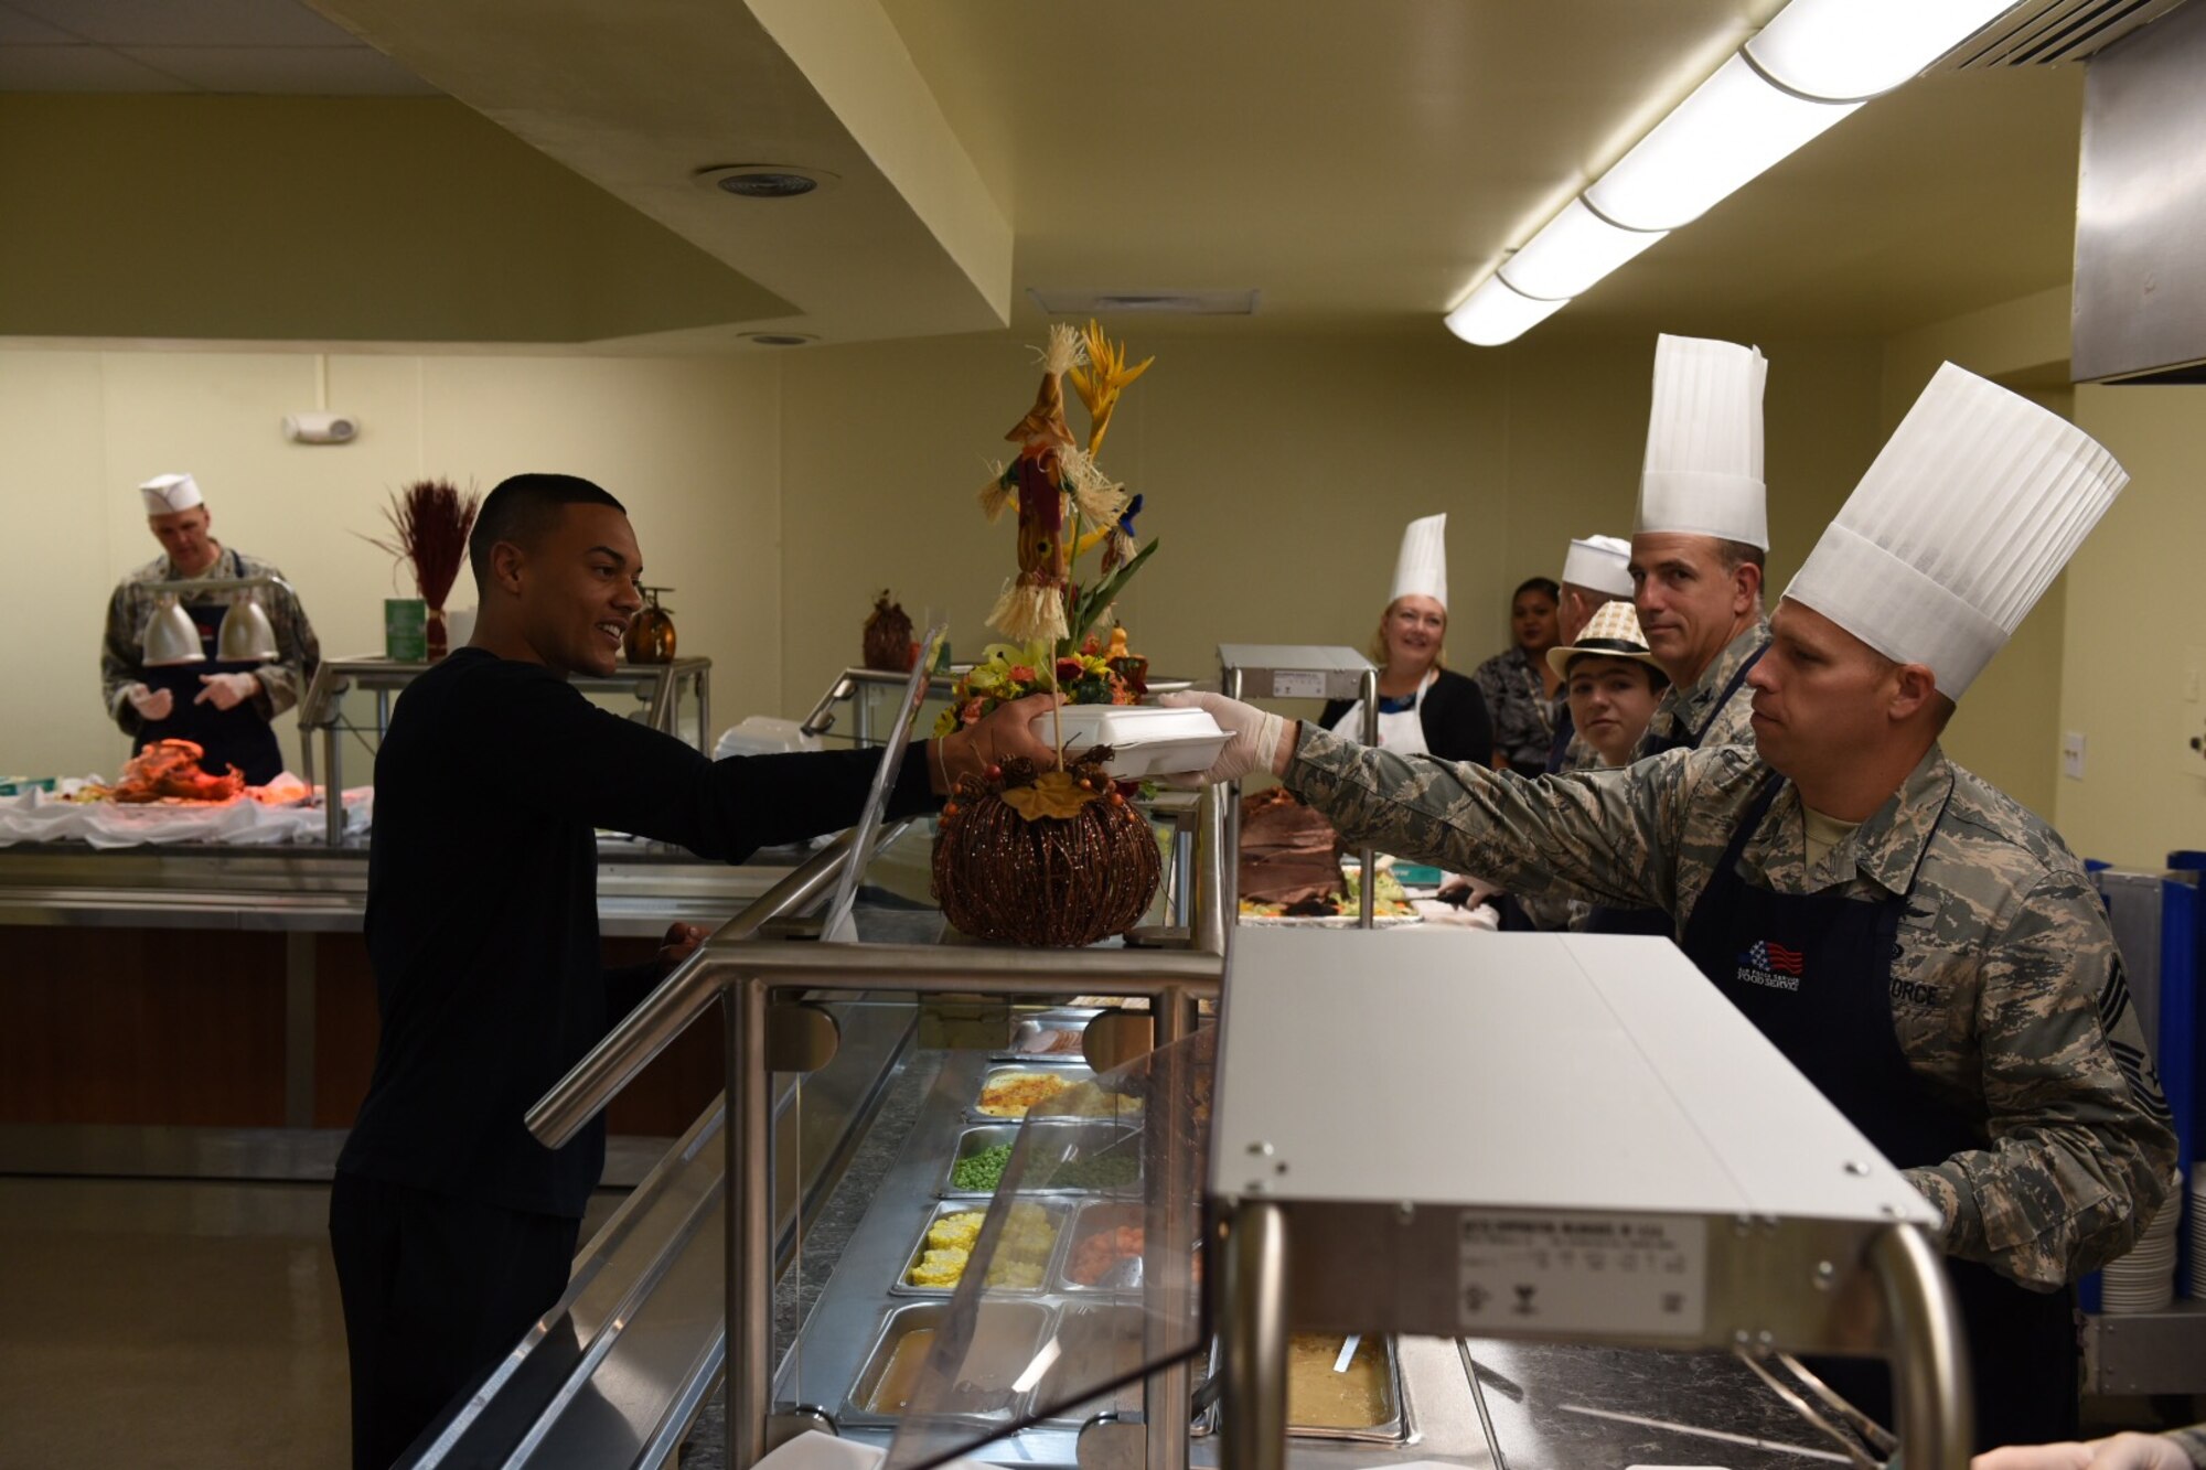
{"type": "Polygon", "coordinates": [[[1677,230],[1860,104],[1802,102],[1734,55],[1586,190],[1630,230],[1677,230]]]}

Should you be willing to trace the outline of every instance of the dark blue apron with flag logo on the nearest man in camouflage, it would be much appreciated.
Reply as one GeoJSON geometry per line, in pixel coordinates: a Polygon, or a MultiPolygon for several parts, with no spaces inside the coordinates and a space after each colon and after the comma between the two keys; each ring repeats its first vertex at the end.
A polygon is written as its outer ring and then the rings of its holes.
{"type": "MultiPolygon", "coordinates": [[[[1906,896],[1868,903],[1776,894],[1738,876],[1738,856],[1782,790],[1771,779],[1692,907],[1683,949],[1785,1057],[1897,1168],[1943,1163],[1988,1143],[1932,1093],[1893,1031],[1893,960],[1906,896]]],[[[1977,1450],[2076,1435],[2074,1291],[2030,1291],[1974,1260],[1946,1260],[1968,1331],[1977,1450]]],[[[1882,1360],[1813,1360],[1816,1373],[1884,1424],[1882,1360]]]]}

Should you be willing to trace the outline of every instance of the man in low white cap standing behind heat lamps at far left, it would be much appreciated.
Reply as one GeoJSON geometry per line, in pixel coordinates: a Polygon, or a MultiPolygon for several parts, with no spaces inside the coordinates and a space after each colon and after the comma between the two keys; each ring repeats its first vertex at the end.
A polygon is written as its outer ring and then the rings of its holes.
{"type": "Polygon", "coordinates": [[[322,662],[322,645],[307,622],[307,609],[287,583],[263,587],[256,596],[276,631],[276,658],[221,660],[216,633],[229,598],[185,594],[181,603],[199,629],[201,658],[146,667],[141,645],[146,625],[161,605],[159,583],[280,578],[282,572],[214,539],[214,514],[190,475],[154,475],[139,486],[139,497],[163,554],[117,583],[108,598],[108,625],[99,645],[99,686],[108,715],[130,735],[132,753],[157,739],[192,739],[205,748],[201,764],[210,773],[221,775],[225,766],[234,766],[254,786],[274,781],[282,773],[282,748],[269,722],[298,704],[322,662]]]}

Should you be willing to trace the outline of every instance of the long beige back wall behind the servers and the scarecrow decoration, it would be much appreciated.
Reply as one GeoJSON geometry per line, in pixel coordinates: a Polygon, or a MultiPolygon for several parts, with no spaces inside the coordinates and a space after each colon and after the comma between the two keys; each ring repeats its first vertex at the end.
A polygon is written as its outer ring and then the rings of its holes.
{"type": "MultiPolygon", "coordinates": [[[[1103,461],[1163,539],[1123,605],[1158,671],[1204,675],[1220,640],[1361,642],[1401,525],[1434,510],[1452,514],[1449,656],[1467,669],[1502,645],[1509,587],[1553,576],[1571,534],[1630,530],[1643,340],[1134,347],[1158,364],[1103,461]]],[[[1767,349],[1780,587],[1875,450],[1880,358],[1767,349]]],[[[810,709],[885,585],[975,653],[1013,567],[1010,525],[986,525],[975,492],[1035,380],[1008,335],[737,362],[353,353],[329,360],[329,402],[362,439],[304,448],[278,419],[313,406],[311,353],[0,349],[0,483],[40,528],[9,594],[38,636],[7,653],[40,693],[0,713],[0,766],[119,764],[99,609],[154,554],[130,486],[172,468],[201,477],[221,536],[289,572],[331,653],[375,651],[382,598],[408,589],[355,534],[382,530],[390,488],[432,472],[488,490],[523,468],[629,503],[684,651],[715,658],[719,724],[810,709]]]]}

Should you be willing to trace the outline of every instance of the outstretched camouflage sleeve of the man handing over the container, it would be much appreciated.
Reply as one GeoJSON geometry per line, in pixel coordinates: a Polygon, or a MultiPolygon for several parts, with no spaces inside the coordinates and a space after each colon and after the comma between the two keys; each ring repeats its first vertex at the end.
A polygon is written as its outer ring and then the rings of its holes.
{"type": "Polygon", "coordinates": [[[1672,907],[1688,761],[1524,779],[1403,759],[1304,724],[1286,786],[1354,848],[1471,872],[1513,894],[1672,907]]]}

